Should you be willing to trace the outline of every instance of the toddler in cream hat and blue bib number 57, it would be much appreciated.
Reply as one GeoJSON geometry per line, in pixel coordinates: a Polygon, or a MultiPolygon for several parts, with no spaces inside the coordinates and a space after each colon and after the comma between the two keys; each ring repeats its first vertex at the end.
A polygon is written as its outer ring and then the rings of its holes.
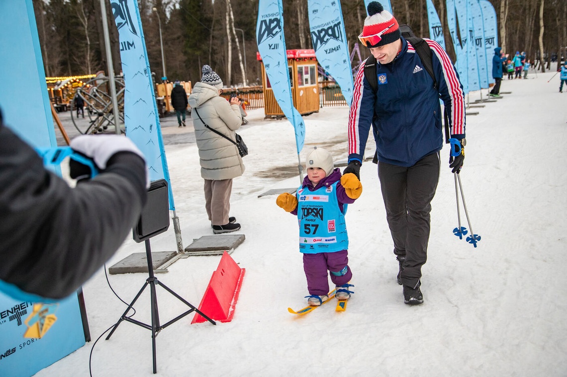
{"type": "Polygon", "coordinates": [[[352,272],[348,266],[349,239],[346,233],[347,204],[362,194],[356,175],[342,175],[333,157],[323,148],[313,149],[306,157],[307,177],[295,195],[280,194],[277,205],[298,216],[299,251],[307,277],[307,304],[319,306],[329,298],[329,280],[336,285],[335,297],[348,299],[352,272]]]}

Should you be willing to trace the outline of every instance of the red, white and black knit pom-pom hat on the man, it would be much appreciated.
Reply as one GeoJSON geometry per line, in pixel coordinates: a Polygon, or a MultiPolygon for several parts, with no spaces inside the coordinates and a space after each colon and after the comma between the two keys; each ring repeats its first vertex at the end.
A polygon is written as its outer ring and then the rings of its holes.
{"type": "Polygon", "coordinates": [[[384,10],[382,4],[377,1],[370,2],[367,11],[369,16],[364,20],[364,28],[359,36],[361,40],[366,38],[366,41],[363,41],[366,47],[383,46],[400,39],[401,33],[397,20],[390,12],[384,10]],[[372,38],[367,37],[376,35],[379,36],[376,38],[378,42],[372,44],[369,41],[372,38]]]}

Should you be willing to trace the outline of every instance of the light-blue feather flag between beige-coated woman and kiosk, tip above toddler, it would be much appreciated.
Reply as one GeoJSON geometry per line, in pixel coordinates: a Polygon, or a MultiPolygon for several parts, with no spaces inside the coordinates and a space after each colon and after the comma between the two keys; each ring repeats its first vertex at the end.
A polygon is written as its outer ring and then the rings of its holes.
{"type": "Polygon", "coordinates": [[[305,123],[293,105],[287,69],[287,50],[284,37],[284,18],[281,0],[260,0],[256,24],[258,52],[264,62],[266,76],[278,105],[295,128],[297,153],[303,149],[305,123]]]}

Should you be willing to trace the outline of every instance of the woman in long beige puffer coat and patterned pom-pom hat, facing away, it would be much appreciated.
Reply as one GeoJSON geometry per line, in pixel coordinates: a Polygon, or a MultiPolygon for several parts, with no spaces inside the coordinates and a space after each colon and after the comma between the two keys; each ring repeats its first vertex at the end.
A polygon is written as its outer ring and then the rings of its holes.
{"type": "Polygon", "coordinates": [[[213,226],[213,233],[235,232],[240,229],[235,217],[229,216],[232,179],[244,173],[242,157],[234,143],[204,126],[206,123],[231,140],[242,125],[240,101],[230,103],[220,96],[222,80],[208,65],[202,68],[201,82],[189,96],[191,118],[199,149],[201,177],[205,179],[205,208],[213,226]]]}

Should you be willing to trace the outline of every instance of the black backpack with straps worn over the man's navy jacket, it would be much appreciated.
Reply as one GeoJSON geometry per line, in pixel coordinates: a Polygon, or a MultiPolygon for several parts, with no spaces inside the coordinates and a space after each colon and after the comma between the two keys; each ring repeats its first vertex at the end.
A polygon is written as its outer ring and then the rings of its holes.
{"type": "MultiPolygon", "coordinates": [[[[400,25],[400,33],[401,36],[403,36],[405,40],[409,41],[412,44],[413,48],[416,49],[416,53],[419,55],[421,63],[424,65],[425,70],[433,79],[433,88],[437,90],[437,80],[435,79],[435,74],[433,73],[433,53],[431,52],[429,45],[423,38],[416,37],[409,25],[400,25]]],[[[374,90],[374,93],[378,93],[376,58],[373,54],[370,54],[370,57],[366,59],[366,63],[364,65],[364,76],[374,90]]],[[[445,143],[448,144],[451,135],[449,132],[449,116],[447,114],[447,110],[443,110],[443,113],[445,113],[443,114],[445,117],[445,143]]],[[[378,151],[376,151],[372,162],[378,164],[378,151]]]]}

